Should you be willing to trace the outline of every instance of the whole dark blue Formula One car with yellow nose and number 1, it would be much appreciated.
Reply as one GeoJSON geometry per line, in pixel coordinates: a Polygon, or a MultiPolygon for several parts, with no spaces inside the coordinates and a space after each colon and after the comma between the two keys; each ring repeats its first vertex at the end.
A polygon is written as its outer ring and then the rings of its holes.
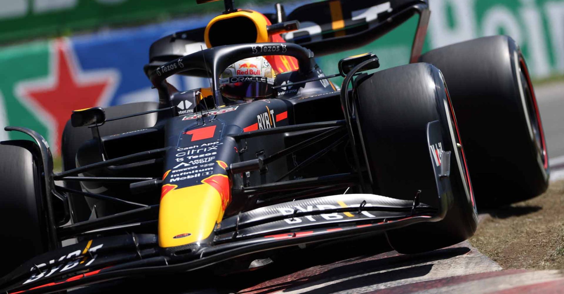
{"type": "Polygon", "coordinates": [[[0,144],[0,292],[244,264],[377,234],[400,253],[430,251],[472,236],[476,203],[547,188],[539,111],[511,38],[421,55],[426,0],[331,0],[288,16],[281,5],[263,15],[224,3],[205,28],[151,46],[144,70],[158,103],[72,113],[62,172],[41,135],[6,127],[34,142],[0,144]],[[373,72],[367,53],[326,76],[315,63],[414,15],[410,64],[373,72]],[[211,87],[179,91],[173,74],[211,87]],[[77,243],[61,247],[67,239],[77,243]]]}

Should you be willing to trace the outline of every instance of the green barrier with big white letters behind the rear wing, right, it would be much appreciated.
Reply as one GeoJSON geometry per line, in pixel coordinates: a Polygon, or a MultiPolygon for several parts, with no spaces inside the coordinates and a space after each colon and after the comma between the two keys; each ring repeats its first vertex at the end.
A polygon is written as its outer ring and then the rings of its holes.
{"type": "MultiPolygon", "coordinates": [[[[563,0],[429,0],[431,20],[424,46],[430,49],[473,38],[506,34],[521,46],[531,74],[545,78],[564,73],[563,0]]],[[[381,69],[406,64],[418,16],[359,49],[318,58],[327,73],[337,72],[344,56],[372,51],[381,69]]]]}

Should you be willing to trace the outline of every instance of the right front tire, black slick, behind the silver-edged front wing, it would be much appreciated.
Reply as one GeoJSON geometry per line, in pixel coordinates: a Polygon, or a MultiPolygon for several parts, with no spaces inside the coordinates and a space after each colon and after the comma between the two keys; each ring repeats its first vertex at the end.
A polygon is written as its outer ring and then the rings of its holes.
{"type": "Polygon", "coordinates": [[[398,199],[438,205],[438,191],[426,127],[439,121],[442,148],[451,151],[452,201],[443,220],[416,223],[386,232],[400,253],[419,253],[462,242],[477,227],[472,183],[456,127],[448,91],[440,71],[417,63],[360,78],[358,125],[372,174],[373,192],[398,199]]]}

